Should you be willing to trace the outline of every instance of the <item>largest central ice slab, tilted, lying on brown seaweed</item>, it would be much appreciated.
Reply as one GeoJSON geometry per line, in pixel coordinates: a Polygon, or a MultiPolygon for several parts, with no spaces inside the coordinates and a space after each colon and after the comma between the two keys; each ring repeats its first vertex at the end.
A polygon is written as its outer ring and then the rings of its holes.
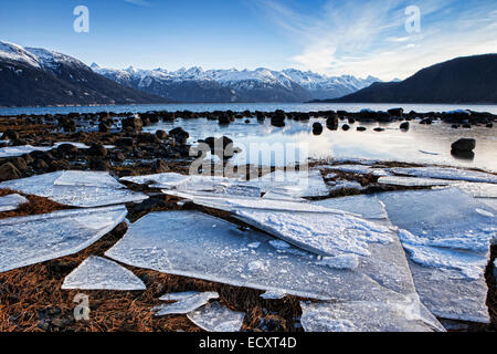
{"type": "Polygon", "coordinates": [[[415,292],[398,239],[371,243],[372,256],[361,258],[356,270],[332,269],[315,254],[287,244],[275,248],[274,241],[198,211],[165,211],[131,225],[106,256],[168,274],[309,299],[363,301],[415,292]]]}

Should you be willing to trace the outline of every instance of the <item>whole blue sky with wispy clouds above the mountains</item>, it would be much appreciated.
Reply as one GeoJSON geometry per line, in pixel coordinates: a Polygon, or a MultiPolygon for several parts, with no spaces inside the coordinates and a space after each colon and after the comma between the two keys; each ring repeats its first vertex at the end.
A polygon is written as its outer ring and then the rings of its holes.
{"type": "Polygon", "coordinates": [[[495,0],[2,0],[0,40],[101,66],[282,70],[404,79],[497,52],[495,0]],[[89,9],[89,33],[73,9],[89,9]],[[421,11],[409,33],[405,9],[421,11]]]}

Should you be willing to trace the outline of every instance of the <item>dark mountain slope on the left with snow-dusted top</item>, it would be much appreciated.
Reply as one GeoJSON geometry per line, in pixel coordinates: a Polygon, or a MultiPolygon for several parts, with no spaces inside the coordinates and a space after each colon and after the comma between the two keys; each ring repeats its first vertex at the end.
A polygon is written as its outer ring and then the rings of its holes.
{"type": "Polygon", "coordinates": [[[166,102],[103,77],[72,56],[0,42],[0,106],[166,102]]]}

